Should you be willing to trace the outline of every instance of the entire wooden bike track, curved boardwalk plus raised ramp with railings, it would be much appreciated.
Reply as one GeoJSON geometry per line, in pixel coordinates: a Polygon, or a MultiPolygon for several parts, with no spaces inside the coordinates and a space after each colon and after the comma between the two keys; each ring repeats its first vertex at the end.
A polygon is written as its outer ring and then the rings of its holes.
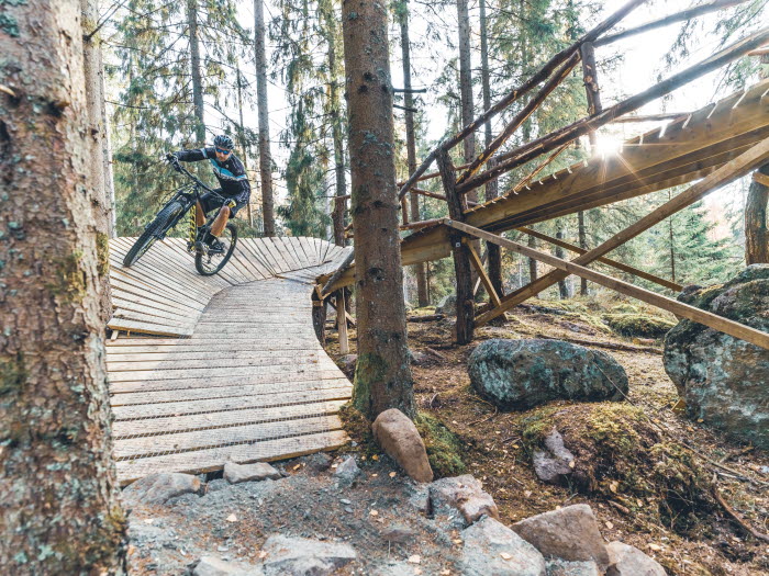
{"type": "MultiPolygon", "coordinates": [[[[593,43],[611,39],[602,35],[640,3],[643,0],[631,0],[555,55],[534,77],[442,143],[401,183],[401,200],[412,192],[447,202],[447,218],[403,223],[404,228],[415,231],[402,240],[401,257],[403,266],[454,257],[460,343],[472,339],[475,326],[573,273],[769,349],[766,332],[587,268],[600,261],[666,289],[680,290],[675,282],[614,262],[606,255],[769,161],[769,80],[681,114],[664,127],[626,142],[616,155],[593,156],[542,176],[576,138],[769,43],[769,29],[760,30],[640,94],[602,110],[593,43]],[[580,61],[589,115],[503,151],[506,139],[580,61]],[[453,147],[538,84],[543,84],[538,92],[478,157],[466,159],[464,167],[453,165],[453,147]],[[537,159],[542,159],[538,167],[508,193],[481,204],[468,202],[468,192],[537,159]],[[438,171],[426,173],[433,162],[437,162],[438,171]],[[444,194],[414,188],[430,178],[441,178],[444,194]],[[543,221],[687,183],[692,184],[590,250],[528,228],[543,221]],[[500,236],[511,229],[537,235],[579,256],[566,261],[500,236]],[[555,270],[513,293],[502,294],[484,271],[475,242],[469,241],[477,238],[545,262],[555,270]],[[471,267],[490,296],[489,304],[480,310],[472,305],[471,267]]],[[[701,12],[734,3],[739,2],[713,2],[701,12]]],[[[692,10],[662,20],[688,19],[692,10]]],[[[649,27],[654,25],[638,30],[649,27]]],[[[338,201],[344,201],[344,196],[338,201]]],[[[192,259],[179,239],[167,239],[131,269],[122,268],[131,241],[118,238],[110,246],[114,317],[109,327],[113,334],[130,332],[112,340],[107,352],[121,482],[153,472],[216,470],[227,460],[289,458],[338,447],[346,440],[337,410],[349,398],[350,384],[317,342],[311,296],[314,293],[315,298],[326,298],[353,283],[352,248],[313,238],[245,239],[238,242],[232,261],[219,275],[202,278],[194,273],[192,259]]]]}

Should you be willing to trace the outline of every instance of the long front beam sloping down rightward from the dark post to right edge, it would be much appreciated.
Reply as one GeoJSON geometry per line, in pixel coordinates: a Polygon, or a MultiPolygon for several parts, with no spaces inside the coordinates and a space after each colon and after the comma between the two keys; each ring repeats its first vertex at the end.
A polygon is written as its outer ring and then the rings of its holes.
{"type": "Polygon", "coordinates": [[[757,330],[756,328],[751,328],[737,321],[729,320],[728,318],[724,318],[723,316],[717,316],[710,312],[702,310],[694,306],[690,306],[689,304],[683,304],[682,302],[678,302],[677,300],[662,296],[655,292],[634,286],[633,284],[613,279],[600,272],[595,272],[593,270],[590,270],[589,268],[584,268],[583,266],[577,264],[575,262],[567,262],[566,260],[561,260],[560,258],[556,258],[555,256],[550,256],[548,253],[540,252],[539,250],[528,248],[522,244],[514,242],[513,240],[508,240],[506,238],[497,236],[495,234],[481,230],[480,228],[473,228],[472,226],[468,226],[467,224],[464,224],[461,222],[447,221],[446,224],[465,234],[469,234],[470,236],[498,244],[499,246],[503,248],[509,248],[522,256],[534,258],[535,260],[545,262],[546,264],[562,270],[564,275],[576,274],[582,278],[587,278],[588,280],[595,282],[597,284],[606,286],[611,290],[620,292],[621,294],[625,294],[626,296],[640,300],[643,302],[646,302],[647,304],[657,306],[658,308],[671,312],[677,316],[682,316],[690,320],[704,324],[705,326],[709,326],[715,330],[720,330],[722,332],[728,334],[729,336],[740,338],[747,342],[769,350],[769,334],[764,332],[761,330],[757,330]]]}

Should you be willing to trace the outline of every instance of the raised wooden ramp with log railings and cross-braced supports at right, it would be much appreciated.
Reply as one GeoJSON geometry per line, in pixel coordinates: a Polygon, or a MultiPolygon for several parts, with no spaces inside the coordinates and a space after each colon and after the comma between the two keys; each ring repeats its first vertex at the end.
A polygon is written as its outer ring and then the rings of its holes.
{"type": "MultiPolygon", "coordinates": [[[[469,342],[472,339],[475,327],[482,326],[503,315],[505,310],[538,294],[569,274],[576,274],[681,317],[690,318],[769,349],[769,335],[766,332],[586,268],[591,262],[598,261],[651,281],[665,289],[676,292],[682,289],[676,282],[613,261],[606,258],[606,255],[665,218],[692,205],[724,184],[759,168],[769,160],[769,80],[764,80],[698,111],[677,114],[670,118],[669,124],[661,128],[655,128],[625,142],[621,151],[615,155],[594,155],[590,159],[566,169],[545,177],[540,176],[540,172],[580,136],[592,135],[595,129],[612,122],[638,120],[638,116],[628,116],[627,114],[742,56],[764,54],[766,48],[762,46],[769,44],[769,27],[764,27],[748,35],[698,65],[605,110],[601,109],[600,103],[593,55],[594,46],[608,44],[670,22],[687,20],[702,13],[739,4],[743,1],[707,2],[637,29],[611,36],[604,35],[633,9],[643,4],[644,0],[628,2],[575,44],[550,58],[537,74],[509,92],[461,132],[438,145],[405,182],[399,183],[398,197],[401,202],[404,202],[406,193],[411,192],[412,199],[413,194],[424,194],[444,200],[447,203],[447,218],[415,223],[403,222],[401,229],[415,231],[403,238],[401,242],[401,262],[403,266],[412,266],[448,256],[454,257],[458,343],[469,342]],[[590,115],[533,142],[503,150],[506,140],[556,87],[572,72],[580,60],[582,61],[590,115]],[[465,166],[454,166],[449,156],[449,151],[454,147],[481,128],[492,116],[503,112],[539,84],[543,86],[538,92],[531,97],[527,104],[513,116],[483,151],[465,166]],[[469,192],[495,183],[501,176],[536,159],[540,159],[539,165],[528,177],[513,185],[505,194],[492,197],[484,203],[468,202],[467,194],[469,192]],[[425,173],[433,162],[437,163],[438,171],[425,173]],[[486,169],[482,170],[484,167],[486,169]],[[415,188],[417,182],[434,178],[442,180],[443,194],[415,188]],[[699,182],[591,250],[550,238],[528,228],[536,223],[605,206],[695,180],[699,182]],[[579,256],[569,262],[500,236],[501,233],[512,229],[575,251],[579,256]],[[473,247],[477,242],[469,241],[476,239],[483,239],[488,245],[512,249],[551,266],[555,270],[510,294],[501,294],[498,289],[494,289],[494,285],[499,287],[499,282],[494,283],[483,269],[482,259],[477,248],[473,247]],[[490,297],[490,302],[478,310],[475,309],[473,303],[478,282],[473,286],[471,270],[478,274],[479,282],[483,283],[490,297]]],[[[403,210],[402,214],[405,216],[408,211],[403,210]]],[[[333,274],[323,274],[317,278],[316,291],[323,296],[327,296],[353,284],[354,279],[354,253],[350,253],[333,274]]]]}

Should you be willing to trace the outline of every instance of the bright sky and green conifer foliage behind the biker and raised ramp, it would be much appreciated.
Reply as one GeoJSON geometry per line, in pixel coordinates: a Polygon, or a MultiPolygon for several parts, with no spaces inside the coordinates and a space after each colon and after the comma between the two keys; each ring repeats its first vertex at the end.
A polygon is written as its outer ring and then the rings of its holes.
{"type": "MultiPolygon", "coordinates": [[[[488,98],[494,102],[622,3],[622,0],[468,2],[473,115],[484,109],[484,75],[490,86],[488,98]],[[481,16],[480,2],[483,2],[484,16],[481,16]],[[482,57],[481,32],[487,36],[488,65],[482,57]]],[[[634,27],[699,3],[648,2],[623,24],[626,29],[634,27]]],[[[205,142],[210,143],[219,133],[235,138],[236,151],[246,161],[254,191],[252,222],[243,211],[241,227],[246,234],[263,233],[254,7],[250,0],[124,0],[104,2],[101,8],[100,34],[107,71],[119,236],[137,235],[178,182],[160,158],[167,151],[199,146],[196,134],[201,118],[205,142]],[[193,63],[198,59],[190,42],[191,29],[199,44],[198,81],[202,89],[202,108],[196,106],[193,98],[193,63]]],[[[769,15],[768,7],[769,0],[751,0],[597,48],[604,108],[760,27],[769,15]]],[[[411,104],[416,110],[419,163],[439,140],[458,132],[461,125],[457,2],[398,0],[390,8],[392,84],[404,86],[403,23],[408,22],[411,84],[424,89],[414,94],[411,104]]],[[[341,5],[331,0],[269,0],[264,4],[264,14],[268,33],[267,101],[276,230],[279,235],[333,239],[332,199],[349,193],[346,111],[342,94],[341,5]]],[[[758,58],[743,58],[638,113],[694,111],[754,83],[760,74],[758,58]]],[[[404,94],[397,97],[398,106],[405,106],[404,94]]],[[[521,99],[498,116],[491,126],[492,135],[526,102],[527,99],[521,99]]],[[[587,106],[581,75],[573,72],[511,138],[509,146],[517,146],[583,117],[587,106]]],[[[405,112],[397,108],[393,113],[397,168],[399,177],[404,179],[409,173],[405,112]]],[[[611,124],[599,132],[594,147],[591,148],[587,137],[582,138],[578,146],[569,147],[550,165],[551,170],[565,168],[590,154],[621,154],[617,148],[621,140],[664,128],[664,124],[611,124]]],[[[480,134],[476,146],[477,150],[482,148],[480,134]]],[[[461,159],[456,158],[456,163],[462,163],[461,159]]],[[[205,167],[200,168],[200,173],[210,179],[205,167]]],[[[509,190],[533,168],[527,165],[506,174],[500,180],[500,191],[509,190]]],[[[743,212],[748,183],[747,178],[737,181],[713,194],[706,204],[698,203],[660,223],[617,249],[616,259],[683,284],[707,284],[734,275],[744,266],[743,212]]],[[[438,187],[439,181],[433,180],[422,188],[439,192],[438,187]]],[[[587,245],[600,244],[676,192],[657,192],[588,211],[584,214],[587,245]]],[[[420,196],[419,214],[420,219],[443,216],[445,203],[420,196]]],[[[579,244],[577,215],[534,227],[579,244]]],[[[508,233],[508,236],[515,238],[516,233],[508,233]]],[[[531,262],[516,255],[505,255],[505,293],[528,283],[532,274],[543,271],[533,270],[531,262]]],[[[428,264],[428,292],[433,303],[453,290],[453,275],[448,259],[428,264]]],[[[623,280],[660,290],[632,276],[623,280]]],[[[406,300],[415,302],[413,274],[406,274],[405,282],[406,300]]],[[[569,282],[566,293],[554,286],[545,296],[570,296],[578,289],[569,282]]]]}

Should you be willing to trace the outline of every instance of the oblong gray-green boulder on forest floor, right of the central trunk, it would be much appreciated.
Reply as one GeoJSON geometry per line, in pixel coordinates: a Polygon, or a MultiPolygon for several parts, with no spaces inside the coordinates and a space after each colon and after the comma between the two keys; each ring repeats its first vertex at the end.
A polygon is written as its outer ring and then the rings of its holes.
{"type": "Polygon", "coordinates": [[[502,410],[627,393],[627,374],[611,355],[560,340],[487,340],[470,354],[468,372],[478,394],[502,410]]]}

